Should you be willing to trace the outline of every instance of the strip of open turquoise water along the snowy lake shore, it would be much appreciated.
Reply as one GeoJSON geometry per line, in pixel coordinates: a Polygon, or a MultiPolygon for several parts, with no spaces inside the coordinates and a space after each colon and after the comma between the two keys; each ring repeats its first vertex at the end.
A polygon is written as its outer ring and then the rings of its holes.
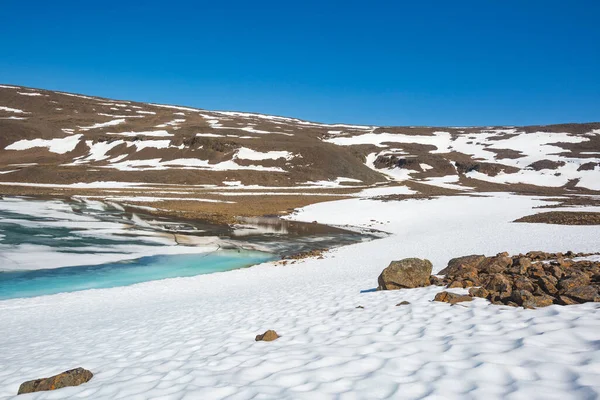
{"type": "Polygon", "coordinates": [[[0,300],[133,285],[249,267],[276,259],[270,253],[219,250],[143,257],[101,265],[0,272],[0,300]]]}

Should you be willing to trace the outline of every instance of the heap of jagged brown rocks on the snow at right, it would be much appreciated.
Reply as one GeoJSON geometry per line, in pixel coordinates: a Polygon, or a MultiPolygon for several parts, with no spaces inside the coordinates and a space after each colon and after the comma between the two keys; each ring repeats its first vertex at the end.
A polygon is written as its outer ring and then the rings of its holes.
{"type": "Polygon", "coordinates": [[[431,276],[430,282],[448,288],[470,288],[472,297],[515,307],[600,302],[600,261],[573,260],[589,255],[570,251],[470,255],[450,260],[439,272],[445,276],[431,276]]]}

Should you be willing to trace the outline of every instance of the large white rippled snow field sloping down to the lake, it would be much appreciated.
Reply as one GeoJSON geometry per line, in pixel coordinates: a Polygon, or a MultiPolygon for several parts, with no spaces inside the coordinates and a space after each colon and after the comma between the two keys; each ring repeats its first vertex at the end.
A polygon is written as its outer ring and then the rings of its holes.
{"type": "Polygon", "coordinates": [[[428,258],[435,272],[473,253],[598,250],[597,226],[510,223],[542,203],[508,194],[319,203],[292,218],[392,235],[323,260],[0,302],[0,396],[83,366],[90,382],[29,398],[595,399],[596,304],[450,306],[431,302],[438,287],[371,291],[404,257],[428,258]],[[395,306],[403,300],[411,304],[395,306]],[[281,338],[255,342],[267,329],[281,338]]]}

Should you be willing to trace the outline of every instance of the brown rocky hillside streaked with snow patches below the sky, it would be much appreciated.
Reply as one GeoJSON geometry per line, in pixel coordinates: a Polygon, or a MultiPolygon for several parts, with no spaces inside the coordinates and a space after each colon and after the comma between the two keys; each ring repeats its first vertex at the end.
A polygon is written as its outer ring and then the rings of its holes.
{"type": "MultiPolygon", "coordinates": [[[[600,191],[600,123],[377,127],[0,86],[0,181],[600,191]]],[[[0,182],[0,183],[1,183],[0,182]]]]}

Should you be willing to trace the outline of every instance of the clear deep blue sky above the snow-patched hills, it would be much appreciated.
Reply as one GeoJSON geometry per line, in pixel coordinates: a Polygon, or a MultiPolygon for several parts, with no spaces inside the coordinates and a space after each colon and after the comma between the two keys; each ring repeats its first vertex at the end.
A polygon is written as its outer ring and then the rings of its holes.
{"type": "Polygon", "coordinates": [[[323,122],[600,120],[600,1],[3,0],[0,82],[323,122]]]}

